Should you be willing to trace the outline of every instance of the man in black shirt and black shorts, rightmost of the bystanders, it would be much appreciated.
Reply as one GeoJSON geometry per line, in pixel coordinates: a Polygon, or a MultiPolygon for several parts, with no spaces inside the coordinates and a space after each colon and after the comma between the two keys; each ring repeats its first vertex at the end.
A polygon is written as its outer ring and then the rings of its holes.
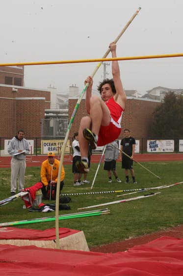
{"type": "Polygon", "coordinates": [[[130,130],[124,130],[125,138],[121,140],[121,151],[128,154],[131,158],[127,157],[125,154],[120,152],[120,161],[122,161],[122,169],[125,169],[126,176],[126,184],[129,183],[129,173],[128,170],[131,171],[131,177],[133,179],[133,183],[136,184],[135,181],[135,173],[133,170],[133,155],[135,152],[135,139],[130,136],[130,130]]]}

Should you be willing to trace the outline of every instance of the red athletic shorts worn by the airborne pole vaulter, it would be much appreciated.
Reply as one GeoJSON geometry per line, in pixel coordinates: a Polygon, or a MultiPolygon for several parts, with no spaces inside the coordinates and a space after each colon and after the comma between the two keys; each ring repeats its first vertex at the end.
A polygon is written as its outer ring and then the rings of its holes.
{"type": "Polygon", "coordinates": [[[104,146],[115,141],[121,133],[121,128],[117,128],[112,122],[106,127],[101,126],[99,131],[98,146],[104,146]]]}

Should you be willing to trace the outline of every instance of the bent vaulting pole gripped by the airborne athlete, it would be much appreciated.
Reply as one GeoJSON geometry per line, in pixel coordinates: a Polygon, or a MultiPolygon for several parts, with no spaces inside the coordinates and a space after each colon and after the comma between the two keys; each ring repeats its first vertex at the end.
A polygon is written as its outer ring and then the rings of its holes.
{"type": "MultiPolygon", "coordinates": [[[[129,22],[126,24],[126,26],[123,28],[123,30],[121,31],[121,33],[116,37],[116,39],[114,40],[114,43],[117,43],[117,41],[120,39],[120,37],[123,35],[123,33],[126,31],[126,29],[128,28],[128,26],[131,24],[131,22],[133,21],[133,19],[135,18],[135,16],[138,14],[138,12],[140,11],[140,7],[137,9],[137,11],[133,14],[133,16],[131,17],[131,19],[129,20],[129,22]]],[[[110,53],[110,48],[108,48],[108,50],[106,51],[105,55],[103,56],[103,58],[106,58],[107,55],[110,53]]],[[[94,75],[96,74],[97,70],[100,68],[102,62],[100,62],[97,67],[95,68],[95,70],[93,71],[93,73],[91,74],[91,77],[93,78],[94,75]]],[[[56,207],[55,207],[55,232],[56,232],[56,248],[59,249],[60,245],[59,245],[59,222],[58,222],[58,215],[59,215],[59,192],[60,192],[60,176],[61,176],[61,169],[62,169],[62,164],[63,164],[63,160],[64,160],[64,153],[65,153],[65,148],[66,148],[66,144],[67,144],[67,140],[69,138],[69,133],[70,133],[70,129],[72,126],[72,123],[74,121],[76,112],[78,110],[79,104],[82,100],[82,97],[88,87],[88,82],[86,83],[83,91],[81,92],[79,98],[78,98],[78,102],[75,106],[75,109],[73,111],[73,114],[71,116],[71,120],[69,123],[69,126],[67,128],[67,133],[64,139],[64,143],[63,143],[63,148],[62,148],[62,153],[61,153],[61,157],[60,157],[60,165],[59,165],[59,171],[58,171],[58,181],[57,181],[57,186],[56,186],[56,207]]]]}

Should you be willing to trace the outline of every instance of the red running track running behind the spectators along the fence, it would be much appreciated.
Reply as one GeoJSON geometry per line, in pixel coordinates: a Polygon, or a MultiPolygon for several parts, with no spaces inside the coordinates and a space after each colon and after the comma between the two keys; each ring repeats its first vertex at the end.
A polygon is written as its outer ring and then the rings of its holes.
{"type": "MultiPolygon", "coordinates": [[[[46,155],[38,155],[32,156],[32,162],[27,161],[27,167],[36,167],[41,166],[42,162],[45,161],[47,158],[46,155]]],[[[67,156],[66,156],[67,158],[67,156]]],[[[101,159],[101,155],[95,154],[91,156],[92,163],[99,163],[101,159]]],[[[104,157],[103,157],[104,160],[104,157]]],[[[151,161],[183,161],[183,153],[149,153],[149,154],[135,154],[134,160],[137,162],[151,162],[151,161]]],[[[0,168],[9,168],[11,164],[11,156],[8,157],[0,157],[0,168]]],[[[72,164],[69,160],[64,160],[64,165],[72,164]]]]}

